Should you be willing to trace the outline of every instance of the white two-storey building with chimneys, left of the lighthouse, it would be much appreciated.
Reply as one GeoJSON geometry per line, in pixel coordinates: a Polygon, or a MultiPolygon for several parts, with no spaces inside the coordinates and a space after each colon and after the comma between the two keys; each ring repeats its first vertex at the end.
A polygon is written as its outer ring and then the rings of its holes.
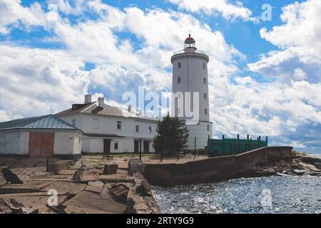
{"type": "Polygon", "coordinates": [[[146,118],[138,113],[104,103],[104,98],[73,104],[72,108],[56,116],[83,130],[82,151],[86,153],[154,152],[158,118],[146,118]],[[141,140],[141,144],[140,144],[141,140]]]}

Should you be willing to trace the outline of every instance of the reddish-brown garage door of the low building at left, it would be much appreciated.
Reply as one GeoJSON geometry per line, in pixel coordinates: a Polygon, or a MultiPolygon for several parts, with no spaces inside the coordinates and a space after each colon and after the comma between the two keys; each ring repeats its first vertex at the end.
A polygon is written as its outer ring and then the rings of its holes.
{"type": "Polygon", "coordinates": [[[30,133],[29,157],[52,157],[54,133],[30,133]]]}

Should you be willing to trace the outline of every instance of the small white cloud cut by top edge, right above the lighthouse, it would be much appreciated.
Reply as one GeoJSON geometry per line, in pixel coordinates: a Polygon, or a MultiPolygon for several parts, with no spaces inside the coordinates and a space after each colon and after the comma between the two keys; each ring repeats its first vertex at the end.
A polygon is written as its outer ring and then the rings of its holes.
{"type": "Polygon", "coordinates": [[[241,18],[245,21],[254,20],[252,11],[243,6],[241,1],[236,4],[230,4],[228,0],[169,0],[178,4],[180,9],[186,9],[192,12],[204,12],[205,14],[221,14],[225,19],[241,18]]]}

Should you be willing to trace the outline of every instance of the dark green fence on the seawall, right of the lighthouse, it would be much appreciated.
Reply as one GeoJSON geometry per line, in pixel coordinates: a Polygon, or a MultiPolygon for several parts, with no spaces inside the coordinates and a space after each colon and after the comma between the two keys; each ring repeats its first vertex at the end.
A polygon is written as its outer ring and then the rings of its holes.
{"type": "Polygon", "coordinates": [[[267,147],[267,137],[265,141],[261,140],[260,136],[257,140],[224,138],[221,140],[210,139],[208,146],[205,146],[205,154],[213,156],[237,155],[241,152],[267,147]]]}

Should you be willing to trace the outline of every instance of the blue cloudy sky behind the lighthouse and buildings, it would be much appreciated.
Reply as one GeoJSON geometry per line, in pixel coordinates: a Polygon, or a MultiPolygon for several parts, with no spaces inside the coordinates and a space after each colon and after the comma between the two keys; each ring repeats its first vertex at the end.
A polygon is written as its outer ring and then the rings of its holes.
{"type": "Polygon", "coordinates": [[[170,92],[170,56],[190,32],[210,57],[215,138],[268,135],[319,153],[320,12],[320,0],[0,0],[0,121],[87,93],[170,92]]]}

